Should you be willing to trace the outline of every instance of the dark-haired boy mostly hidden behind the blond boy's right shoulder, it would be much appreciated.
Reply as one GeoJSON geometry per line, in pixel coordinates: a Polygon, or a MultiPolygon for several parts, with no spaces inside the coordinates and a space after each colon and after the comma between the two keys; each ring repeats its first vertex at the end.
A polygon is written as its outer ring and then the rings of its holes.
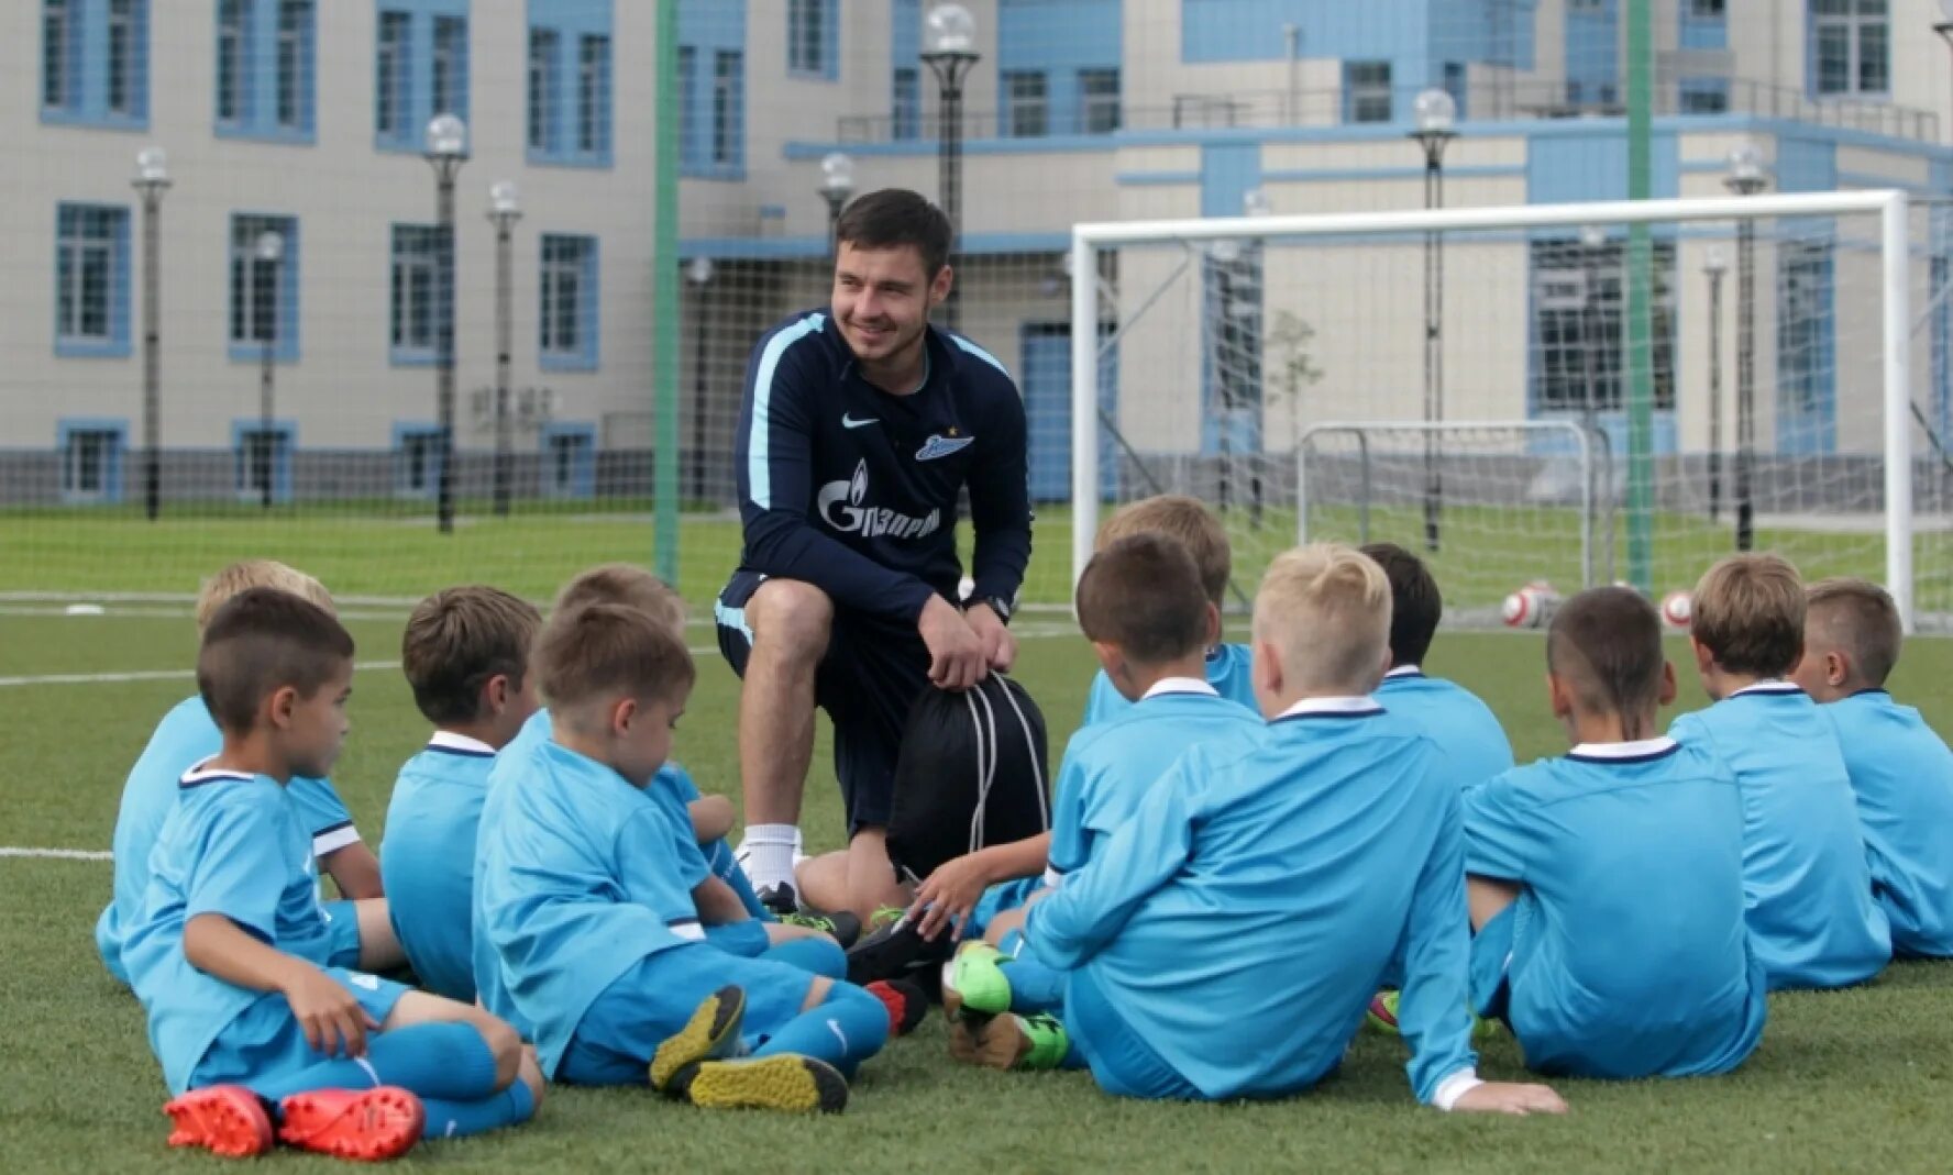
{"type": "Polygon", "coordinates": [[[1371,543],[1363,554],[1391,580],[1391,669],[1377,701],[1432,736],[1459,787],[1512,771],[1512,742],[1492,709],[1463,685],[1424,671],[1445,607],[1430,568],[1396,543],[1371,543]]]}

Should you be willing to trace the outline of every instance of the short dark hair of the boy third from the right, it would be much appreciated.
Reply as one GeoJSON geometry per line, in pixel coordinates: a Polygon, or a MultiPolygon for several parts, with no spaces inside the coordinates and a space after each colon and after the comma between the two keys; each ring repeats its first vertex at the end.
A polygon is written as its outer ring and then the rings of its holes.
{"type": "Polygon", "coordinates": [[[1547,671],[1588,714],[1648,714],[1662,701],[1662,617],[1633,588],[1590,588],[1547,628],[1547,671]]]}

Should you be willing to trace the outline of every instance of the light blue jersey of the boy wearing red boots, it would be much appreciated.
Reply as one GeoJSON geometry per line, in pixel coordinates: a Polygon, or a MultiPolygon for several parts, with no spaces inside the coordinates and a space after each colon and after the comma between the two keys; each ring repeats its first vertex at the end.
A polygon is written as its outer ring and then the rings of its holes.
{"type": "Polygon", "coordinates": [[[205,769],[182,775],[178,790],[121,952],[172,1093],[189,1087],[219,1034],[264,997],[191,966],[184,956],[189,919],[221,913],[318,966],[332,952],[312,843],[289,792],[264,775],[205,769]]]}

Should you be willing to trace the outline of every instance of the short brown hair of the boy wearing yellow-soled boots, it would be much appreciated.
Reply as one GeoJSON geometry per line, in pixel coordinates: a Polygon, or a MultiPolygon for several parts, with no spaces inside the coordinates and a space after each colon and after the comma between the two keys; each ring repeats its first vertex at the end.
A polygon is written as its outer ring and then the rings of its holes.
{"type": "Polygon", "coordinates": [[[605,697],[670,701],[697,679],[678,632],[623,603],[551,615],[535,642],[535,669],[555,709],[605,697]]]}

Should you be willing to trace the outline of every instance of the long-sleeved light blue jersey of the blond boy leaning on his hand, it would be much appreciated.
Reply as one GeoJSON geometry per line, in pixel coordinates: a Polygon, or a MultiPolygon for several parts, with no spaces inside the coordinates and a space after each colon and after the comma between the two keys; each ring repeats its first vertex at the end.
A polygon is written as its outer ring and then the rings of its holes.
{"type": "Polygon", "coordinates": [[[1459,789],[1371,699],[1299,703],[1246,751],[1193,748],[1027,927],[1072,972],[1066,1003],[1086,984],[1203,1097],[1328,1075],[1392,954],[1418,1097],[1449,1107],[1475,1079],[1459,789]]]}

